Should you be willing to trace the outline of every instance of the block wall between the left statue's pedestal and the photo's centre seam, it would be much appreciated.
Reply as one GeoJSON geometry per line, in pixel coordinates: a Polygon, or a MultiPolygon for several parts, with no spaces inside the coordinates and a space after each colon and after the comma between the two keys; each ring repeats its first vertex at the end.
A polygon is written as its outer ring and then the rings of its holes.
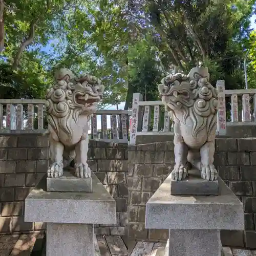
{"type": "Polygon", "coordinates": [[[128,224],[127,144],[91,140],[89,147],[88,164],[116,200],[117,211],[117,225],[99,225],[95,233],[124,236],[128,224]]]}

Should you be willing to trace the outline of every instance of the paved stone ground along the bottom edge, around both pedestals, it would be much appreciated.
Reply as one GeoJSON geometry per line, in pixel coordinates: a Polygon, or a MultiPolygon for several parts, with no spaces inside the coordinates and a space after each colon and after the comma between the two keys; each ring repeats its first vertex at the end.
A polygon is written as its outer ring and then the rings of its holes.
{"type": "MultiPolygon", "coordinates": [[[[124,241],[120,236],[97,236],[100,256],[156,256],[165,243],[124,241]]],[[[256,256],[256,250],[225,249],[225,256],[256,256]]],[[[45,256],[43,234],[0,236],[1,256],[45,256]]]]}

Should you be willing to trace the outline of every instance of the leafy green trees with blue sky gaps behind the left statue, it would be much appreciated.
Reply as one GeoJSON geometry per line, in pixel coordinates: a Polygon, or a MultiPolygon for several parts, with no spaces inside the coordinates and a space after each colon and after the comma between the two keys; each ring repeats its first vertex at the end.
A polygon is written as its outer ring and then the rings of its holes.
{"type": "Polygon", "coordinates": [[[5,92],[5,98],[42,98],[53,83],[54,70],[67,67],[76,74],[87,72],[102,79],[106,87],[103,104],[123,101],[129,38],[124,3],[21,0],[14,4],[6,0],[0,65],[9,75],[0,78],[0,93],[8,85],[12,92],[5,92]]]}

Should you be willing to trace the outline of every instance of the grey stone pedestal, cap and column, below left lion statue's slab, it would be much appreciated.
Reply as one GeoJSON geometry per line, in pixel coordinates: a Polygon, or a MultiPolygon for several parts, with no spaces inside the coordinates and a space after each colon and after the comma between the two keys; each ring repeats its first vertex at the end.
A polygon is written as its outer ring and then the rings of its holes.
{"type": "Polygon", "coordinates": [[[93,224],[116,224],[115,200],[95,175],[89,193],[47,191],[46,183],[25,200],[25,221],[47,223],[46,256],[96,256],[93,224]]]}

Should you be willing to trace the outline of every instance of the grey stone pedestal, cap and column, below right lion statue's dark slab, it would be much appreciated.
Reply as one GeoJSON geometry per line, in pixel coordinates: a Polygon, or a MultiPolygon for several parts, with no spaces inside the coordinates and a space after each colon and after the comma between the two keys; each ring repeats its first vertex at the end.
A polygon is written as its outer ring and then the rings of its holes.
{"type": "Polygon", "coordinates": [[[218,196],[174,196],[171,175],[146,203],[145,228],[169,229],[165,256],[221,256],[220,230],[243,230],[243,204],[219,179],[218,196]]]}

